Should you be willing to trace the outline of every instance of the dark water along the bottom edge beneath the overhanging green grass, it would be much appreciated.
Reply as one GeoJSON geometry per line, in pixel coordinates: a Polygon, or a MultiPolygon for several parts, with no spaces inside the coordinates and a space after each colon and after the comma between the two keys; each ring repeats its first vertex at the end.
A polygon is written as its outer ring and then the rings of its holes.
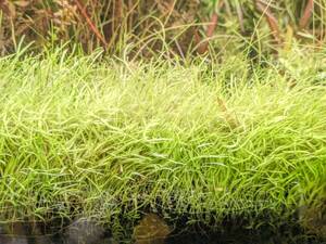
{"type": "Polygon", "coordinates": [[[43,223],[0,224],[0,244],[326,244],[325,240],[296,229],[259,231],[233,227],[224,232],[174,231],[164,239],[115,240],[110,231],[87,220],[53,227],[43,223]]]}

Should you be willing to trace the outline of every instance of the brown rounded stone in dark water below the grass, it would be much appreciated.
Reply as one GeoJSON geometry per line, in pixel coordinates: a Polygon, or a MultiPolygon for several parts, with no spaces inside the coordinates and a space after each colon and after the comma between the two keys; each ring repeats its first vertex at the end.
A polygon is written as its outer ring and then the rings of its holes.
{"type": "Polygon", "coordinates": [[[135,244],[164,244],[172,229],[154,214],[146,215],[134,229],[135,244]]]}

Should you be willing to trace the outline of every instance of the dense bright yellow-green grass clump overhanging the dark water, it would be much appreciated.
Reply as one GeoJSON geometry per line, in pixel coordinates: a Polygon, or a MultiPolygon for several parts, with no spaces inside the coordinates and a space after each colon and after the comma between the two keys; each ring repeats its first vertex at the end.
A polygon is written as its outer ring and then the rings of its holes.
{"type": "Polygon", "coordinates": [[[249,63],[2,57],[2,219],[158,205],[220,218],[323,200],[323,72],[304,55],[249,63]]]}

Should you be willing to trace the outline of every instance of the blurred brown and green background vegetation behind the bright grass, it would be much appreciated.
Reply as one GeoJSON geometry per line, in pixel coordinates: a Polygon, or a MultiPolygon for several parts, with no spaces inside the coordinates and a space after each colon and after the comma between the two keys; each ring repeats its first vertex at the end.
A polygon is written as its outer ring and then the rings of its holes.
{"type": "Polygon", "coordinates": [[[17,43],[102,47],[111,54],[186,56],[209,51],[275,53],[318,48],[325,0],[0,0],[0,52],[17,43]]]}

